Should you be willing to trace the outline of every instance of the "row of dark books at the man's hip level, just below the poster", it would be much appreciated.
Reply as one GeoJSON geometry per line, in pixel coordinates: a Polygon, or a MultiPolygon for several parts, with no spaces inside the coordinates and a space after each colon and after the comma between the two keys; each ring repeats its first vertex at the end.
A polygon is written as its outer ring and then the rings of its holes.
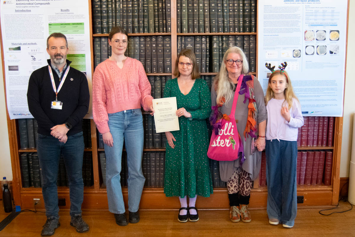
{"type": "MultiPolygon", "coordinates": [[[[83,119],[82,122],[84,145],[91,147],[91,122],[90,119],[83,119]]],[[[18,119],[18,131],[20,133],[21,149],[36,149],[38,136],[37,120],[32,118],[18,119]]]]}

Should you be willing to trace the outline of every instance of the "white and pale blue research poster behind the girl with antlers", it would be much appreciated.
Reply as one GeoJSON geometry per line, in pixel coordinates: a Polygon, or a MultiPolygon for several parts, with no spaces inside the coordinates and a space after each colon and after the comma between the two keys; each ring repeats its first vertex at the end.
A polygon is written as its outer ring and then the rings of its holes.
{"type": "Polygon", "coordinates": [[[304,116],[343,116],[347,0],[258,1],[258,79],[287,62],[304,116]]]}

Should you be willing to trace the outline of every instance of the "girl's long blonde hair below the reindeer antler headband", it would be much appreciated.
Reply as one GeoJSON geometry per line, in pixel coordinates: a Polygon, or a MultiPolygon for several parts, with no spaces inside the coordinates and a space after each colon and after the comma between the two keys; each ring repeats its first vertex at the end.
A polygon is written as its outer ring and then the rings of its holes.
{"type": "Polygon", "coordinates": [[[270,101],[270,99],[275,98],[274,92],[270,87],[270,83],[271,83],[271,79],[277,75],[283,76],[285,78],[285,82],[286,82],[286,88],[284,90],[285,100],[282,103],[282,106],[284,106],[285,102],[287,102],[288,108],[290,109],[290,108],[292,108],[292,104],[293,104],[292,98],[297,99],[298,102],[299,102],[299,100],[298,100],[297,96],[295,95],[295,93],[293,92],[293,88],[292,88],[292,84],[291,84],[291,80],[290,80],[289,75],[287,74],[286,71],[280,71],[280,70],[274,71],[269,77],[268,87],[266,90],[265,105],[267,105],[267,103],[270,101]]]}

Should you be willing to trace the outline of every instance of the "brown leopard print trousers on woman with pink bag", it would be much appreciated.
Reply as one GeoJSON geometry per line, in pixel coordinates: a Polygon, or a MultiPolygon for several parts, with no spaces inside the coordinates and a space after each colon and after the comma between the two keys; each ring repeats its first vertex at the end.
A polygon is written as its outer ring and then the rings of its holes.
{"type": "Polygon", "coordinates": [[[252,180],[248,172],[238,167],[227,182],[228,193],[238,193],[242,196],[249,196],[252,180]]]}

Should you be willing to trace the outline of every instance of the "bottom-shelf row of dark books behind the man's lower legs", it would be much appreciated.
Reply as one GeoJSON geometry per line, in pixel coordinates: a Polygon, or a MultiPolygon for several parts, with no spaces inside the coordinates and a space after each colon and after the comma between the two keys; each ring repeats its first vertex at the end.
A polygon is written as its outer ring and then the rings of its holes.
{"type": "MultiPolygon", "coordinates": [[[[42,168],[39,163],[37,152],[24,152],[20,154],[20,165],[21,165],[21,175],[22,175],[22,187],[29,188],[42,187],[43,177],[42,168]]],[[[83,166],[82,166],[82,176],[84,186],[93,185],[93,164],[92,164],[92,153],[84,152],[83,156],[83,166]]],[[[59,168],[57,176],[57,186],[69,187],[69,176],[65,169],[64,158],[60,155],[59,168]]]]}

